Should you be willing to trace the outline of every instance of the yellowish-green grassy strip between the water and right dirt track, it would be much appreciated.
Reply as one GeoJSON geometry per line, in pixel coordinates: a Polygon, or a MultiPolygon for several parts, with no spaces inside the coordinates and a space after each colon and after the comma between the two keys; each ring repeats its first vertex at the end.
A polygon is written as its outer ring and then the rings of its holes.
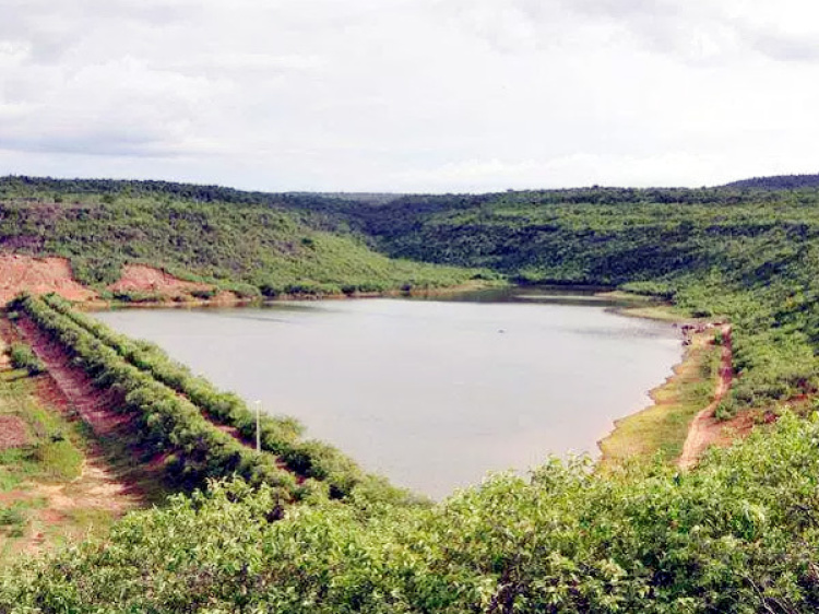
{"type": "Polygon", "coordinates": [[[654,404],[617,421],[615,430],[600,442],[602,469],[636,457],[672,461],[680,454],[688,425],[713,395],[721,352],[712,339],[712,331],[695,335],[674,375],[651,391],[654,404]]]}

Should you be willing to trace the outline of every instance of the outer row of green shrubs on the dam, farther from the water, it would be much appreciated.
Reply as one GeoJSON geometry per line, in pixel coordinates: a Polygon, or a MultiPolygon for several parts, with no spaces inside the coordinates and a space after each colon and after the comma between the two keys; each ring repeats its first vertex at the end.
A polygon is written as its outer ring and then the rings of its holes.
{"type": "Polygon", "coordinates": [[[146,457],[164,457],[163,469],[175,484],[192,489],[211,477],[239,475],[251,484],[270,484],[284,499],[299,499],[314,489],[314,481],[298,484],[275,457],[259,453],[216,428],[199,409],[150,374],[129,364],[117,352],[46,302],[16,297],[11,306],[24,312],[71,356],[94,386],[110,390],[114,409],[133,417],[131,433],[146,457]]]}

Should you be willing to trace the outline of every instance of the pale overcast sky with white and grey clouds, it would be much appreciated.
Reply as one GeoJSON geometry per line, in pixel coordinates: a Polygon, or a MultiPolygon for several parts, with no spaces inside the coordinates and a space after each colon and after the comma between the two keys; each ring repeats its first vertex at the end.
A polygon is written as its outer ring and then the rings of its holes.
{"type": "Polygon", "coordinates": [[[812,0],[0,0],[0,175],[266,191],[819,173],[812,0]]]}

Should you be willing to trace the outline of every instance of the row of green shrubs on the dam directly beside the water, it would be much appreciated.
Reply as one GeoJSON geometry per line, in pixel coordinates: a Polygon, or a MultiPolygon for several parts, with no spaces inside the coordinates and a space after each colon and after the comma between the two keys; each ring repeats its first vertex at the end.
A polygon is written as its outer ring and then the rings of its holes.
{"type": "MultiPolygon", "coordinates": [[[[256,414],[238,395],[217,390],[210,381],[197,377],[170,359],[157,345],[134,341],[104,323],[72,309],[57,295],[43,298],[48,307],[70,319],[120,357],[145,374],[185,395],[207,417],[238,429],[247,440],[256,438],[256,414]]],[[[301,477],[325,481],[333,497],[344,497],[365,477],[347,456],[322,441],[299,438],[304,428],[292,417],[262,416],[260,440],[262,450],[276,454],[285,467],[301,477]]]]}

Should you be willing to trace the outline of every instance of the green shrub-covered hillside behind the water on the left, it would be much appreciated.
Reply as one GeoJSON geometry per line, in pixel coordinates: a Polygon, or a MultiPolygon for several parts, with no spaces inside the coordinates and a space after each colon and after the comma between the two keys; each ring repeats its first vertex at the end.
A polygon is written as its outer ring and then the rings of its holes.
{"type": "Polygon", "coordinates": [[[0,250],[67,257],[82,283],[100,290],[117,281],[123,263],[142,262],[246,297],[429,288],[476,274],[377,253],[305,204],[325,200],[158,181],[5,177],[0,250]]]}

